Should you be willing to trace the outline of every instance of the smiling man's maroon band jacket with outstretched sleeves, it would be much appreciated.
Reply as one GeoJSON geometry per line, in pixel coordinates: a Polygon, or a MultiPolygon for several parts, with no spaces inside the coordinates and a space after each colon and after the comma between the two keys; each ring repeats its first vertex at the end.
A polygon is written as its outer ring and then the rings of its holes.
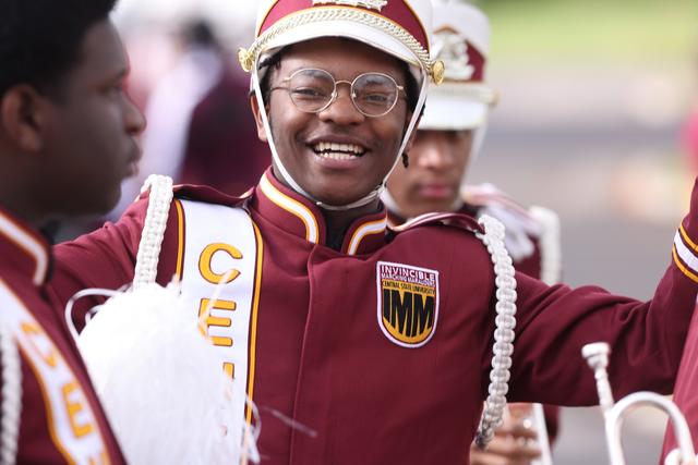
{"type": "MultiPolygon", "coordinates": [[[[358,234],[384,223],[381,211],[357,219],[337,252],[325,245],[321,211],[270,171],[245,199],[192,186],[179,187],[176,198],[244,207],[258,228],[262,272],[249,374],[262,411],[260,450],[266,463],[469,462],[462,444],[480,418],[494,328],[494,272],[472,233],[481,231],[474,220],[447,213],[399,233],[373,228],[374,233],[358,234]],[[293,212],[298,206],[312,213],[311,222],[293,212]],[[386,264],[437,272],[431,339],[419,347],[398,345],[380,328],[386,289],[376,276],[386,264]],[[289,428],[272,411],[316,436],[289,428]]],[[[53,290],[61,304],[84,287],[116,289],[133,279],[146,208],[147,197],[118,223],[56,247],[53,290]]],[[[172,203],[160,283],[180,271],[181,255],[188,254],[180,243],[194,229],[186,228],[181,211],[172,203]]],[[[690,215],[683,225],[698,237],[690,215]]],[[[210,233],[205,224],[193,228],[210,233]]],[[[580,348],[599,340],[614,347],[610,374],[616,395],[671,392],[698,287],[685,270],[675,256],[647,303],[595,286],[547,286],[517,273],[509,400],[598,404],[580,348]]]]}

